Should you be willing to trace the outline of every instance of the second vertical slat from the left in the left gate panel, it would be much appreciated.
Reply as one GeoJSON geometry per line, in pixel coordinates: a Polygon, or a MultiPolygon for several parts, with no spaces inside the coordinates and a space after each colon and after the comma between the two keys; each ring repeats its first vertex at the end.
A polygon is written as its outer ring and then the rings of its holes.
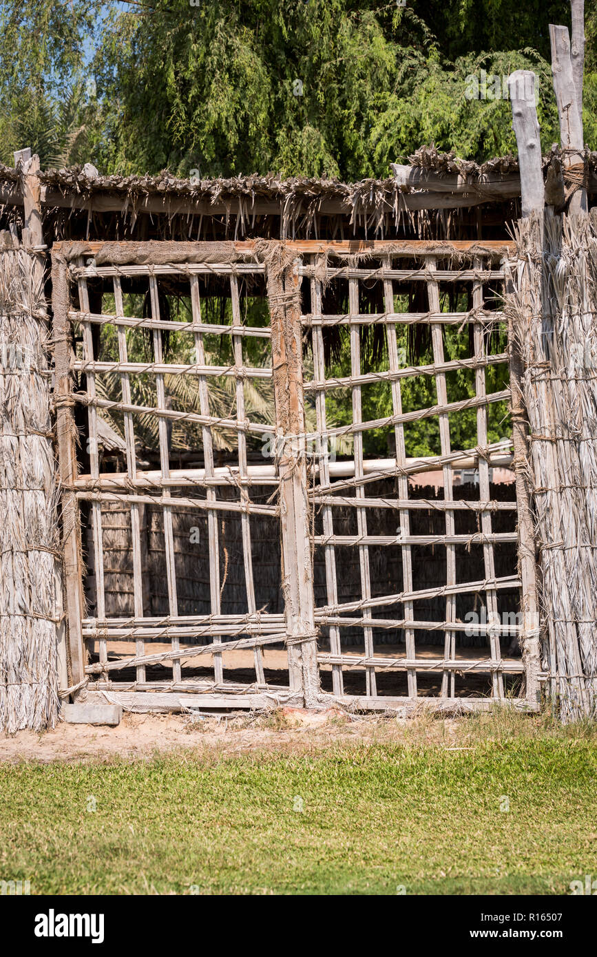
{"type": "MultiPolygon", "coordinates": [[[[124,315],[122,306],[122,285],[120,277],[114,278],[114,310],[117,316],[124,315]]],[[[123,325],[117,326],[118,344],[119,344],[119,362],[127,362],[126,347],[126,328],[123,325]]],[[[127,372],[121,372],[122,402],[125,405],[131,405],[130,379],[127,372]]],[[[123,412],[124,417],[124,441],[126,443],[126,474],[129,479],[137,478],[137,456],[135,455],[135,426],[132,412],[123,412]]],[[[139,503],[131,501],[131,540],[133,550],[133,600],[134,613],[136,618],[144,616],[144,586],[143,586],[143,557],[141,546],[141,519],[139,503]]],[[[147,609],[150,613],[150,609],[147,609]]],[[[145,642],[142,637],[135,638],[135,649],[137,657],[142,657],[145,650],[145,642]]],[[[137,680],[145,680],[145,666],[137,665],[137,680]]]]}

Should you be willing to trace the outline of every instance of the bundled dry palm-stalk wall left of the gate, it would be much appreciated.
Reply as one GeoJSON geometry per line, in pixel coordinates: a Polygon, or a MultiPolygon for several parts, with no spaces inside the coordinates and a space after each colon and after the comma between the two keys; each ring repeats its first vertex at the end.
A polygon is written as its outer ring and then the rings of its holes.
{"type": "Polygon", "coordinates": [[[57,717],[58,526],[42,270],[2,240],[0,730],[12,733],[57,717]]]}

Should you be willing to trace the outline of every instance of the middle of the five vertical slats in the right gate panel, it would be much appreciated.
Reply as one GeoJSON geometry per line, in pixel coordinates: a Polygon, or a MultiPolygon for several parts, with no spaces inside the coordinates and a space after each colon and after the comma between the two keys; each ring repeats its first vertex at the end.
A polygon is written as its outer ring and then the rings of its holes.
{"type": "MultiPolygon", "coordinates": [[[[385,260],[384,266],[387,269],[391,269],[391,258],[387,258],[385,260]]],[[[384,300],[386,312],[394,312],[394,286],[390,278],[384,278],[384,300]]],[[[390,372],[396,372],[400,367],[398,358],[398,343],[396,340],[396,326],[392,323],[388,323],[386,326],[386,335],[389,370],[390,372]]],[[[402,390],[400,386],[400,379],[392,379],[391,394],[393,414],[402,415],[402,390]]],[[[398,423],[398,425],[394,427],[394,437],[396,441],[396,462],[399,466],[403,466],[406,462],[407,451],[405,446],[404,425],[402,422],[398,423]]],[[[409,498],[409,478],[406,475],[398,476],[398,495],[400,499],[404,499],[405,501],[409,498]]],[[[410,534],[409,509],[401,508],[398,514],[400,516],[401,534],[408,538],[410,534]]],[[[412,591],[412,558],[410,545],[401,545],[400,550],[402,556],[403,590],[412,591]]],[[[411,601],[404,602],[404,613],[405,618],[412,618],[413,603],[411,601]]],[[[405,630],[405,637],[407,645],[407,657],[409,660],[414,660],[416,657],[414,629],[407,628],[405,630]]],[[[407,681],[409,688],[409,698],[416,698],[417,680],[416,670],[414,668],[409,668],[409,671],[407,672],[407,681]]]]}

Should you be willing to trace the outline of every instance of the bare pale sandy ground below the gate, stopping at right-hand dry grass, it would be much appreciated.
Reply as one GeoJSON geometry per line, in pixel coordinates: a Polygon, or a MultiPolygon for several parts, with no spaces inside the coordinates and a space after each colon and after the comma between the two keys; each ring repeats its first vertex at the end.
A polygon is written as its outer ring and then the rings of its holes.
{"type": "MultiPolygon", "coordinates": [[[[53,731],[35,734],[19,731],[0,736],[0,762],[106,761],[115,758],[149,758],[158,753],[185,749],[197,754],[222,752],[228,755],[254,750],[298,753],[333,743],[383,739],[400,740],[404,719],[379,717],[344,718],[333,712],[298,716],[306,723],[278,715],[264,721],[247,716],[209,718],[197,723],[185,715],[125,714],[118,727],[59,723],[53,731]],[[269,726],[268,726],[269,725],[269,726]]],[[[450,722],[446,722],[450,724],[450,722]]]]}

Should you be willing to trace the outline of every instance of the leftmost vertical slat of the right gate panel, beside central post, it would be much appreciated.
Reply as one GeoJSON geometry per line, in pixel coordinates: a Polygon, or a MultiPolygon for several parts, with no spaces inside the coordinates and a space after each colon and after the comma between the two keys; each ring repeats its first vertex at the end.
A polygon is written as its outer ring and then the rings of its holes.
{"type": "MultiPolygon", "coordinates": [[[[314,257],[315,260],[315,257],[314,257]]],[[[321,281],[311,279],[311,312],[315,317],[321,316],[321,281]]],[[[323,386],[325,383],[325,360],[323,353],[323,332],[321,325],[313,326],[313,378],[317,386],[323,386]]],[[[318,424],[318,463],[320,468],[320,484],[329,484],[329,459],[328,459],[328,440],[325,439],[325,448],[321,446],[321,434],[325,434],[326,412],[325,412],[325,391],[316,390],[315,408],[318,424]]],[[[331,505],[322,506],[323,534],[325,536],[334,534],[334,521],[331,505]]],[[[332,607],[338,605],[338,579],[336,576],[336,552],[331,543],[325,545],[325,585],[327,590],[327,604],[332,607]]],[[[330,634],[330,652],[332,655],[342,654],[342,644],[340,640],[340,629],[338,625],[329,626],[330,634]]],[[[343,695],[343,670],[342,664],[332,665],[332,688],[335,695],[343,695]]]]}

